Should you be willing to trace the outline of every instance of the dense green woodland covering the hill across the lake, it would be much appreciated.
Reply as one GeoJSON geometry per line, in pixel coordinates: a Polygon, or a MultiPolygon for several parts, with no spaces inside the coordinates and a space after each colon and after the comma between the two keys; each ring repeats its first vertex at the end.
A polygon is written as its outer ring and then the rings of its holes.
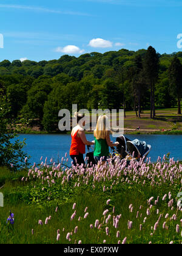
{"type": "Polygon", "coordinates": [[[41,129],[58,128],[61,108],[124,108],[140,118],[156,107],[175,107],[181,113],[182,52],[159,54],[147,50],[92,52],[58,60],[0,62],[1,94],[6,94],[12,118],[38,122],[41,129]]]}

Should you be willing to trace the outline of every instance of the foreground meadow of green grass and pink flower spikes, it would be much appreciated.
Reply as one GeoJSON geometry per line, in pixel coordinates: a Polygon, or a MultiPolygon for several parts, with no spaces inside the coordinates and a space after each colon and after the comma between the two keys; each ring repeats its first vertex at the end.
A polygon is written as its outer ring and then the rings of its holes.
{"type": "Polygon", "coordinates": [[[67,155],[59,164],[41,159],[19,172],[0,169],[0,243],[182,243],[180,162],[164,155],[157,163],[66,163],[67,155]]]}

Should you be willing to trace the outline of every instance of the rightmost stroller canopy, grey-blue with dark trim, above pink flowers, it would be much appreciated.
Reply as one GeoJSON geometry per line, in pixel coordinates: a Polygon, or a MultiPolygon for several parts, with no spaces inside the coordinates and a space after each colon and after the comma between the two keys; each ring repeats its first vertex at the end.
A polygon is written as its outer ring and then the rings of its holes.
{"type": "Polygon", "coordinates": [[[127,141],[126,144],[130,154],[133,154],[133,152],[135,152],[134,157],[138,157],[138,154],[140,154],[141,157],[144,157],[149,154],[149,151],[151,149],[151,146],[147,144],[146,141],[140,141],[138,139],[135,139],[133,141],[127,141]]]}

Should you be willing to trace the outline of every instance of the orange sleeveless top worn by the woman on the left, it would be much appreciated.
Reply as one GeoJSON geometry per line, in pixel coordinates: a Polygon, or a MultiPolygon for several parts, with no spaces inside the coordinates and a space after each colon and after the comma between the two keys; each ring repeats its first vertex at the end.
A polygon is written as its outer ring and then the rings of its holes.
{"type": "Polygon", "coordinates": [[[79,154],[85,154],[86,153],[86,145],[83,143],[81,138],[78,138],[78,136],[77,136],[78,130],[72,136],[72,144],[71,144],[71,148],[70,148],[70,155],[79,155],[79,154]]]}

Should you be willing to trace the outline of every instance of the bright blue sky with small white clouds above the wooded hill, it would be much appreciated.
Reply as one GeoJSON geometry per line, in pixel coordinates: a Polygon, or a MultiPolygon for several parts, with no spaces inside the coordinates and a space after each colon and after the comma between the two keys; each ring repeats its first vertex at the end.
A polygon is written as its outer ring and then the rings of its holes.
{"type": "Polygon", "coordinates": [[[182,51],[181,13],[181,0],[0,0],[0,61],[182,51]]]}

